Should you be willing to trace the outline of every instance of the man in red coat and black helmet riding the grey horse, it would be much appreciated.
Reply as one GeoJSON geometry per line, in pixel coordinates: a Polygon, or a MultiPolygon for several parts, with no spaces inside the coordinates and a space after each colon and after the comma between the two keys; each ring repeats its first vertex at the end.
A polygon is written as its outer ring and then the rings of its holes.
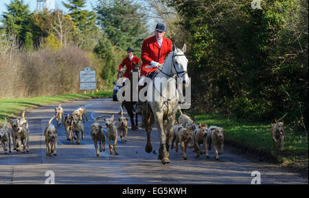
{"type": "MultiPolygon", "coordinates": [[[[155,35],[150,38],[146,38],[141,46],[141,79],[139,80],[139,88],[144,86],[144,77],[148,75],[150,71],[155,71],[159,64],[163,64],[165,57],[172,52],[172,41],[164,37],[165,25],[163,23],[157,23],[155,28],[155,35]],[[153,66],[150,69],[146,69],[146,66],[153,66]]],[[[141,114],[141,102],[137,103],[136,114],[141,114]]]]}

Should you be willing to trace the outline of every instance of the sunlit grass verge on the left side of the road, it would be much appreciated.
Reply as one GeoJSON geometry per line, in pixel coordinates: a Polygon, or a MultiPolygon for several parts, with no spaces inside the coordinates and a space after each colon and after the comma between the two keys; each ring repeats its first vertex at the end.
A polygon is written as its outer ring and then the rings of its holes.
{"type": "Polygon", "coordinates": [[[68,95],[56,95],[48,97],[32,97],[25,99],[0,99],[0,125],[3,125],[4,118],[20,117],[21,112],[27,107],[45,106],[54,103],[63,103],[67,101],[73,101],[78,99],[91,99],[91,98],[106,98],[112,97],[112,91],[94,92],[87,94],[68,94],[68,95]]]}

